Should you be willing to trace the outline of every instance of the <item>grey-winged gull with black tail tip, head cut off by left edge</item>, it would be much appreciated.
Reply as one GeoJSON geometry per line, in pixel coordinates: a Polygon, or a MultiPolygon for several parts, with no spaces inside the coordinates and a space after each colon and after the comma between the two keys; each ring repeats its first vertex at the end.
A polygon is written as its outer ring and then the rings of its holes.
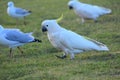
{"type": "Polygon", "coordinates": [[[17,47],[20,52],[23,53],[23,51],[20,49],[20,46],[31,42],[41,42],[41,40],[35,39],[32,36],[32,32],[23,33],[19,29],[3,28],[3,26],[0,25],[0,45],[10,48],[11,57],[13,56],[13,48],[17,47]]]}

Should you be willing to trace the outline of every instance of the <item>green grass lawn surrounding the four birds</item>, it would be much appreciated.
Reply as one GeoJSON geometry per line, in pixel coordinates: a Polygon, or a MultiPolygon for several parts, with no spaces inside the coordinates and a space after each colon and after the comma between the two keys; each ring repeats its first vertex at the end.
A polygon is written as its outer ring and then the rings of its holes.
{"type": "Polygon", "coordinates": [[[34,36],[43,42],[22,46],[24,56],[14,49],[13,58],[8,56],[8,48],[0,46],[0,80],[120,80],[120,0],[81,0],[113,11],[111,15],[100,17],[98,23],[90,20],[85,24],[68,9],[69,0],[12,0],[16,6],[32,10],[26,18],[26,26],[22,25],[22,20],[16,26],[15,19],[7,15],[8,1],[0,1],[0,24],[24,32],[34,31],[34,36]],[[61,26],[105,43],[110,51],[85,52],[77,54],[74,60],[70,60],[70,56],[57,59],[55,55],[62,55],[62,52],[41,32],[41,22],[56,19],[62,13],[61,26]]]}

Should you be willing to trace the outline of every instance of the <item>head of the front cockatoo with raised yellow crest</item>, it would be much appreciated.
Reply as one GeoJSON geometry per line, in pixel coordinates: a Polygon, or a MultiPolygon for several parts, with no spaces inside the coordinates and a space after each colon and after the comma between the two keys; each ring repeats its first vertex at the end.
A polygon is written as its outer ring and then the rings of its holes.
{"type": "Polygon", "coordinates": [[[42,32],[56,32],[60,29],[60,26],[57,22],[62,19],[63,15],[58,18],[57,20],[44,20],[42,22],[42,32]]]}

